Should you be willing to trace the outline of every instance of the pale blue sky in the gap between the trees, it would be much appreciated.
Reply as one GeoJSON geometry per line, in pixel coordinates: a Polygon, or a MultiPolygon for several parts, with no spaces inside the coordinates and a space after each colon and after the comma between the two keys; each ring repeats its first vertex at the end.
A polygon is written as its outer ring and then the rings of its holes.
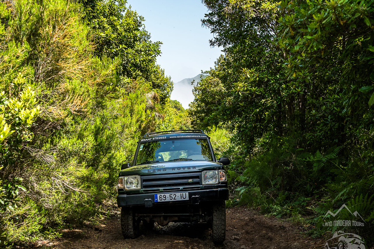
{"type": "MultiPolygon", "coordinates": [[[[201,0],[127,0],[129,5],[145,18],[151,40],[163,43],[157,64],[174,83],[214,67],[222,48],[209,46],[213,34],[201,25],[207,13],[201,0]]],[[[171,99],[176,99],[178,87],[174,89],[171,99]]],[[[188,98],[177,100],[188,107],[188,98]]]]}

